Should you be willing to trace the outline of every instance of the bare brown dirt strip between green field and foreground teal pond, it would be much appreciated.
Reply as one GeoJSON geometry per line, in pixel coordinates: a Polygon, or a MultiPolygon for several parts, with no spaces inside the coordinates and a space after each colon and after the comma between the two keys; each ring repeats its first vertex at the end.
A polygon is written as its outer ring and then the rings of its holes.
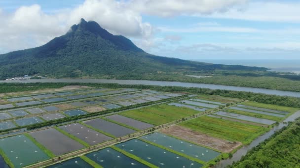
{"type": "Polygon", "coordinates": [[[227,140],[213,138],[206,134],[195,132],[188,128],[181,127],[178,125],[173,125],[169,128],[162,129],[160,130],[160,132],[178,137],[183,140],[188,140],[190,142],[208,146],[225,153],[232,151],[233,149],[237,148],[242,144],[241,142],[230,142],[227,140]]]}

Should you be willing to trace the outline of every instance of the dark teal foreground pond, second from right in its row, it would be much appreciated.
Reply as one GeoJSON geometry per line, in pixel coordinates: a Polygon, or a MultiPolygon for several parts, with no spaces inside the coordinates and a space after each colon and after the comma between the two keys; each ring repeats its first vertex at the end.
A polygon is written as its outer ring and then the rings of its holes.
{"type": "Polygon", "coordinates": [[[203,166],[197,162],[193,162],[187,158],[138,139],[119,143],[115,146],[126,152],[132,153],[159,168],[201,168],[203,166]]]}

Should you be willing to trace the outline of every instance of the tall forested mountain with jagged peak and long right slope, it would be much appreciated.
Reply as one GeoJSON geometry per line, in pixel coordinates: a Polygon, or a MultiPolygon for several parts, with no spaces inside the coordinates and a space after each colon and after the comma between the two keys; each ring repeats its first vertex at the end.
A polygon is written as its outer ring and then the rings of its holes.
{"type": "Polygon", "coordinates": [[[126,37],[112,35],[96,22],[86,22],[84,19],[65,35],[43,46],[0,55],[0,79],[34,74],[55,77],[124,76],[216,69],[266,70],[153,56],[126,37]]]}

